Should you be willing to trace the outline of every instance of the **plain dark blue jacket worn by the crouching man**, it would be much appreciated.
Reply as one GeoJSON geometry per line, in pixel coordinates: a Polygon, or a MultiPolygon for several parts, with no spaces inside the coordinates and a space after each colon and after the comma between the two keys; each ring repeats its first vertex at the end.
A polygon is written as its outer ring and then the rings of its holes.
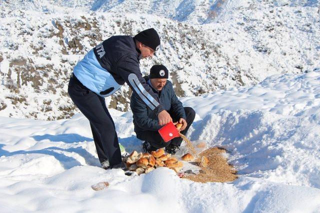
{"type": "MultiPolygon", "coordinates": [[[[145,76],[144,79],[145,81],[149,80],[148,76],[145,76]]],[[[170,81],[166,81],[161,91],[151,88],[157,94],[163,109],[170,114],[172,119],[186,119],[182,103],[176,97],[170,81]]],[[[143,104],[135,92],[131,95],[130,108],[133,114],[134,132],[137,137],[143,131],[157,131],[161,128],[157,115],[143,104]]]]}

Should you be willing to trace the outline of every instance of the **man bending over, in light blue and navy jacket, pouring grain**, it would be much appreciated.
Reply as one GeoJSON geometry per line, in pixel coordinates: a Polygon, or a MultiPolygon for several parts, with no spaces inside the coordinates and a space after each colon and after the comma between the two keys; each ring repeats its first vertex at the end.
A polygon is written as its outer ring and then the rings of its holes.
{"type": "Polygon", "coordinates": [[[160,125],[172,121],[139,68],[139,60],[152,57],[159,45],[159,35],[153,28],[134,37],[111,36],[92,48],[73,68],[68,94],[90,122],[96,152],[104,169],[125,168],[114,123],[104,101],[104,97],[113,94],[124,82],[154,112],[160,125]]]}

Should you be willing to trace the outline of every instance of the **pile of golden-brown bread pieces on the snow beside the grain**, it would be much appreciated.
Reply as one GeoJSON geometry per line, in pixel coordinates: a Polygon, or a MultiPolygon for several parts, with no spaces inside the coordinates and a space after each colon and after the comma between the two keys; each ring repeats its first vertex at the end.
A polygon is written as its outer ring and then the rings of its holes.
{"type": "MultiPolygon", "coordinates": [[[[193,157],[190,154],[182,156],[182,160],[190,161],[193,157]]],[[[178,173],[183,166],[181,161],[171,157],[171,154],[165,154],[163,149],[149,153],[137,153],[133,151],[124,159],[126,167],[130,171],[135,171],[138,175],[149,173],[158,167],[167,167],[178,173]]]]}

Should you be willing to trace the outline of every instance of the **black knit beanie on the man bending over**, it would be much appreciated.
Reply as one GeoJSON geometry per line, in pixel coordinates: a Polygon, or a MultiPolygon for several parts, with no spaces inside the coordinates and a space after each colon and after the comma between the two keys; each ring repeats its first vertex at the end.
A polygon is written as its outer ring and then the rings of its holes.
{"type": "Polygon", "coordinates": [[[155,29],[145,29],[134,36],[134,38],[144,45],[156,51],[160,46],[160,37],[155,29]]]}

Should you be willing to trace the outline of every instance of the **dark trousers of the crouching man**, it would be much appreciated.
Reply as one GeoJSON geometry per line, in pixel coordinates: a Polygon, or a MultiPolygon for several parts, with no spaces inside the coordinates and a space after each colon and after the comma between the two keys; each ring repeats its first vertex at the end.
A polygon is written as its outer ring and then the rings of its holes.
{"type": "MultiPolygon", "coordinates": [[[[195,117],[195,112],[191,107],[184,107],[184,112],[186,115],[187,126],[183,131],[180,132],[183,135],[187,133],[195,117]]],[[[180,118],[172,118],[173,122],[179,121],[179,119],[180,118]]],[[[182,142],[182,138],[178,137],[173,138],[172,140],[165,143],[157,131],[144,131],[138,133],[137,138],[142,141],[148,141],[151,146],[156,149],[167,147],[169,144],[180,146],[182,142]]]]}

